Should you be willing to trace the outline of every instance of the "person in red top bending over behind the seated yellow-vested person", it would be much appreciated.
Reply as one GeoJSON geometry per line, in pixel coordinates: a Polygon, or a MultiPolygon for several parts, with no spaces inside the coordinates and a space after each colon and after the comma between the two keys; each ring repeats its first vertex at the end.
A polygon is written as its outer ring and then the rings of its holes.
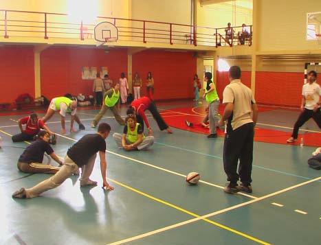
{"type": "Polygon", "coordinates": [[[131,102],[131,106],[127,109],[126,114],[134,114],[136,115],[137,123],[142,125],[142,129],[144,131],[144,123],[146,124],[148,130],[148,136],[153,135],[153,131],[151,126],[148,123],[147,117],[145,115],[145,110],[149,110],[160,130],[166,130],[169,134],[172,134],[173,131],[168,127],[166,122],[164,121],[163,117],[159,114],[155,103],[148,97],[140,97],[137,100],[131,102]]]}

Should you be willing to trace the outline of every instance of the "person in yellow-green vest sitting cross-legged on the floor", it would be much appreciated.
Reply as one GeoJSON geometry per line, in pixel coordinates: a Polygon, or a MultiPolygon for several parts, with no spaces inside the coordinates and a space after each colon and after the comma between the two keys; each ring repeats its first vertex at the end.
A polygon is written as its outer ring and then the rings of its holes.
{"type": "Polygon", "coordinates": [[[129,114],[126,117],[126,126],[124,133],[121,135],[118,132],[113,134],[119,148],[130,150],[147,150],[154,143],[154,137],[145,137],[143,134],[142,125],[137,123],[135,115],[129,114]]]}

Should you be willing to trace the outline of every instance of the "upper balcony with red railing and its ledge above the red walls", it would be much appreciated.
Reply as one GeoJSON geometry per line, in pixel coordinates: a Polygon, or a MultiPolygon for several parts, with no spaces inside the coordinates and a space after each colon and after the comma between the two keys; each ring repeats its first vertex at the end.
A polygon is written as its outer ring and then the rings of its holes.
{"type": "Polygon", "coordinates": [[[0,42],[45,45],[96,45],[94,27],[108,21],[118,29],[120,47],[214,51],[218,47],[252,45],[252,26],[201,27],[97,16],[96,23],[72,21],[67,14],[0,10],[0,42]],[[230,33],[230,34],[228,34],[230,33]]]}

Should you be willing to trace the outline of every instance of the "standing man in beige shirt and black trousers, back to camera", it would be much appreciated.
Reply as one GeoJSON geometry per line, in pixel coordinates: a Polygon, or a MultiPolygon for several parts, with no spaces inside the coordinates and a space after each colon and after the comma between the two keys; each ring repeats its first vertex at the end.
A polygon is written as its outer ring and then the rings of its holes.
{"type": "Polygon", "coordinates": [[[258,107],[251,89],[245,86],[241,78],[240,67],[230,67],[230,84],[223,91],[225,105],[220,126],[226,123],[223,163],[229,185],[224,191],[234,194],[238,191],[252,193],[252,161],[254,126],[258,118],[258,107]],[[252,114],[253,113],[253,114],[252,114]],[[237,173],[237,165],[239,173],[237,173]],[[239,178],[241,186],[238,185],[239,178]]]}

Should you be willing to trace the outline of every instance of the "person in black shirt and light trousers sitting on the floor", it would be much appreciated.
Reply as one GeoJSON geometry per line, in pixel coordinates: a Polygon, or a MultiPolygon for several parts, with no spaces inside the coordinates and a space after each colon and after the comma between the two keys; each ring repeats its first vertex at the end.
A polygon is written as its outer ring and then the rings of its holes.
{"type": "Polygon", "coordinates": [[[58,156],[48,143],[49,132],[41,130],[38,132],[37,139],[31,143],[19,157],[17,167],[21,172],[30,174],[56,174],[60,167],[43,164],[43,154],[45,152],[54,159],[59,165],[63,165],[58,156]]]}

